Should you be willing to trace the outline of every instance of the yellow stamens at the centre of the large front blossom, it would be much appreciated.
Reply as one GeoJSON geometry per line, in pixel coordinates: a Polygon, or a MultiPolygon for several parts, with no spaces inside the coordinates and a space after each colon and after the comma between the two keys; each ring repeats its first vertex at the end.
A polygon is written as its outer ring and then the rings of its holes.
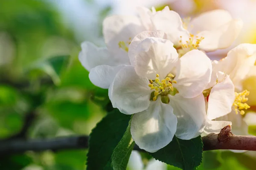
{"type": "Polygon", "coordinates": [[[159,75],[157,74],[154,81],[151,79],[149,80],[150,83],[148,86],[151,88],[151,90],[154,90],[154,97],[153,101],[157,100],[158,95],[167,95],[169,94],[170,90],[174,90],[172,84],[177,83],[175,80],[173,80],[174,75],[168,74],[167,77],[163,80],[159,80],[159,75]]]}

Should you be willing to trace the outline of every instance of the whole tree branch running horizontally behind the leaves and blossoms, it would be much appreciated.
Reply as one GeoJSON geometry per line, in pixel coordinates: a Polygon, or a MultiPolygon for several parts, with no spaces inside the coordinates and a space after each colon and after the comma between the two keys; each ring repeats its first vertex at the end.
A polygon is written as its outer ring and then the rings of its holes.
{"type": "MultiPolygon", "coordinates": [[[[204,151],[206,150],[255,150],[256,136],[240,136],[231,133],[231,127],[224,127],[219,134],[209,134],[202,138],[204,151]]],[[[67,149],[86,149],[88,148],[88,136],[58,137],[53,139],[34,139],[34,140],[9,140],[0,142],[0,156],[23,153],[27,150],[67,150],[67,149]]],[[[134,150],[141,150],[135,145],[134,150]]],[[[145,151],[144,151],[145,152],[145,151]]]]}

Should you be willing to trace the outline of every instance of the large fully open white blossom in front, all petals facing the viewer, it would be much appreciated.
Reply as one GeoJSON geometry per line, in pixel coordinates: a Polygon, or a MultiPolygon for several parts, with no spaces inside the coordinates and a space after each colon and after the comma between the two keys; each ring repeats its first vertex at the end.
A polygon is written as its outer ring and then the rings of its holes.
{"type": "Polygon", "coordinates": [[[192,50],[178,57],[163,32],[145,31],[129,47],[131,66],[117,72],[109,88],[113,107],[134,114],[131,135],[136,144],[156,152],[174,135],[189,140],[200,135],[206,121],[204,96],[211,61],[192,50]]]}

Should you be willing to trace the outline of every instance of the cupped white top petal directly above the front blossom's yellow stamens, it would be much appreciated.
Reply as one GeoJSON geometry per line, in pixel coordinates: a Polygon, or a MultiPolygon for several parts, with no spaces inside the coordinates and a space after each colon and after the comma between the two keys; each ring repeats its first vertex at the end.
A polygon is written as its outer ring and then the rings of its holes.
{"type": "Polygon", "coordinates": [[[156,74],[161,78],[168,75],[177,63],[178,53],[171,41],[148,37],[138,45],[134,57],[137,74],[154,80],[156,74]]]}

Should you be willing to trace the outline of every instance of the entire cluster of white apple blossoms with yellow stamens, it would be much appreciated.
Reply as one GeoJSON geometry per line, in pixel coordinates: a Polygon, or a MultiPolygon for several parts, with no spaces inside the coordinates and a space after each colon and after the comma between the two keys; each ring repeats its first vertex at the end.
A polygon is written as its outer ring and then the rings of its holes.
{"type": "Polygon", "coordinates": [[[107,17],[106,47],[83,42],[79,60],[90,81],[108,89],[113,107],[133,114],[131,135],[141,149],[154,153],[174,135],[219,133],[231,125],[228,115],[250,108],[241,81],[255,67],[256,44],[240,44],[220,61],[207,56],[233,43],[240,19],[224,10],[181,18],[167,6],[138,14],[107,17]]]}

